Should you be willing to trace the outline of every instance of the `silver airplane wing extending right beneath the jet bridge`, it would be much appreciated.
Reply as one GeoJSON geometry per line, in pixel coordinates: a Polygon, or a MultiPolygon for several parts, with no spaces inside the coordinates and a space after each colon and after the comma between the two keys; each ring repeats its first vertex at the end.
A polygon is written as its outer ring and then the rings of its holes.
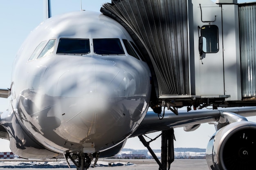
{"type": "Polygon", "coordinates": [[[236,121],[246,120],[245,117],[255,115],[256,107],[222,108],[219,110],[202,109],[191,110],[189,112],[187,110],[179,110],[178,115],[168,110],[162,112],[162,118],[157,113],[148,111],[139,128],[137,128],[131,137],[180,127],[184,127],[185,131],[193,131],[203,123],[218,122],[223,124],[223,119],[229,121],[229,123],[234,123],[236,121]]]}

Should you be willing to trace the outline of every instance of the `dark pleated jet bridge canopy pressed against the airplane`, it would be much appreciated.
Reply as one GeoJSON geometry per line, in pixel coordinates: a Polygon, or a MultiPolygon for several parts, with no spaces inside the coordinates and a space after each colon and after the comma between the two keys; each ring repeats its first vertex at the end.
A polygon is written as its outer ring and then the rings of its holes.
{"type": "Polygon", "coordinates": [[[140,49],[145,49],[145,60],[152,66],[159,96],[190,93],[186,3],[186,0],[112,0],[112,4],[103,5],[126,24],[124,27],[132,30],[132,38],[140,49]]]}

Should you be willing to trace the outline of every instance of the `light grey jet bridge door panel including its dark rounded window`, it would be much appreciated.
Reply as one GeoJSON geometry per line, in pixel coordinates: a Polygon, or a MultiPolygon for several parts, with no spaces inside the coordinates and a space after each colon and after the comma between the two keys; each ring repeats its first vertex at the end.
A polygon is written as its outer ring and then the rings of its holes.
{"type": "Polygon", "coordinates": [[[193,25],[190,44],[194,44],[194,54],[191,54],[191,91],[202,98],[225,95],[221,10],[218,4],[208,0],[189,1],[190,28],[193,25]]]}

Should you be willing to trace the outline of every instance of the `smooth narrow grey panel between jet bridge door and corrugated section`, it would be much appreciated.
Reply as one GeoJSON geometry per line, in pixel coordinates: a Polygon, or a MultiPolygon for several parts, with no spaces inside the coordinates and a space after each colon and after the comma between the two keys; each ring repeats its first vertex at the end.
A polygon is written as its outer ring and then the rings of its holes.
{"type": "Polygon", "coordinates": [[[242,100],[238,5],[222,4],[222,39],[226,100],[242,100]]]}

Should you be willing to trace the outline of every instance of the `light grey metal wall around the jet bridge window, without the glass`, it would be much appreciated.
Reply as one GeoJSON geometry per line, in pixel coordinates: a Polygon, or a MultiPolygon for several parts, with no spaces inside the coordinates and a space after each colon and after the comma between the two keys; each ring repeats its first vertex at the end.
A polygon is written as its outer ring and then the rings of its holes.
{"type": "MultiPolygon", "coordinates": [[[[191,0],[193,7],[193,20],[189,20],[189,26],[193,26],[193,47],[195,74],[191,71],[191,82],[195,80],[195,95],[201,98],[218,98],[225,94],[224,71],[223,71],[223,48],[222,48],[222,9],[211,0],[191,0]],[[202,11],[202,12],[201,12],[202,11]],[[206,22],[208,21],[208,22],[206,22]],[[200,56],[199,36],[201,32],[198,28],[207,25],[218,26],[218,49],[217,53],[203,53],[200,56]]],[[[190,32],[191,33],[191,32],[190,32]]],[[[192,61],[191,61],[192,66],[192,61]]],[[[191,83],[191,86],[193,84],[191,83]]],[[[193,87],[193,86],[192,86],[193,87]]]]}

